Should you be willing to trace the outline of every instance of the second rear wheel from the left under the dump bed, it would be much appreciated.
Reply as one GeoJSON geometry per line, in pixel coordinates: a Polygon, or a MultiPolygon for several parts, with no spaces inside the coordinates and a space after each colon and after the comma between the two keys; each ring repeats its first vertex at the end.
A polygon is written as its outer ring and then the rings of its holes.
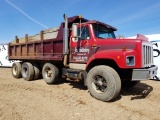
{"type": "Polygon", "coordinates": [[[25,62],[22,64],[21,74],[24,80],[30,81],[34,77],[34,68],[31,63],[25,62]]]}

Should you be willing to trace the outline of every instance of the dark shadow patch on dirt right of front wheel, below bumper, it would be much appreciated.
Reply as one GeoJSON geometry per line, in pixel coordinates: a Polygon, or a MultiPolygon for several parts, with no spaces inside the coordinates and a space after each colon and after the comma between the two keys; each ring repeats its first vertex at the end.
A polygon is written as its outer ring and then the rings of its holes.
{"type": "Polygon", "coordinates": [[[120,94],[122,96],[131,95],[131,100],[144,99],[149,95],[149,93],[152,92],[152,90],[153,90],[152,86],[147,85],[145,83],[139,83],[136,86],[129,89],[122,88],[120,94]]]}

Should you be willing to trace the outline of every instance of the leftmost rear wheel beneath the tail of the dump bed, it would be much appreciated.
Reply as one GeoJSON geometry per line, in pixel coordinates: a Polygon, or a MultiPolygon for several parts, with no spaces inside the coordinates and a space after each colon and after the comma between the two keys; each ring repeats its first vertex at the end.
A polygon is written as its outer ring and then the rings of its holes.
{"type": "Polygon", "coordinates": [[[14,78],[21,78],[22,75],[21,75],[21,63],[19,62],[14,62],[13,65],[12,65],[12,76],[14,78]]]}

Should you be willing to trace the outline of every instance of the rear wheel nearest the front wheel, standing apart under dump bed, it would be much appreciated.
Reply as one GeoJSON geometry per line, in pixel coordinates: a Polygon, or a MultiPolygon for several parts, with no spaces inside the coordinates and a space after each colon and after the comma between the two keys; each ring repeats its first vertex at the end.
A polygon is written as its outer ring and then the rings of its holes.
{"type": "Polygon", "coordinates": [[[42,76],[47,84],[56,83],[58,81],[59,70],[51,63],[46,63],[42,69],[42,76]]]}

